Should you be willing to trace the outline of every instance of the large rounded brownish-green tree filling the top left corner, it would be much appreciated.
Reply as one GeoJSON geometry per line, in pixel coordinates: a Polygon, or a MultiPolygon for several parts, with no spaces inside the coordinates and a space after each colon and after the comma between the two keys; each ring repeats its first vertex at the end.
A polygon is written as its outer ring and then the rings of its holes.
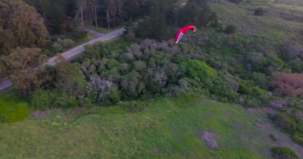
{"type": "Polygon", "coordinates": [[[20,47],[43,48],[48,32],[43,18],[22,0],[0,2],[0,55],[20,47]]]}

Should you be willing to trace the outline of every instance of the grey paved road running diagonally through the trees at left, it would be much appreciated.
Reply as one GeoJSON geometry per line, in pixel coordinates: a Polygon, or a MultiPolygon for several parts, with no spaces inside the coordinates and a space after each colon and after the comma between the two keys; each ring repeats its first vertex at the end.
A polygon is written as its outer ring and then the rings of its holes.
{"type": "MultiPolygon", "coordinates": [[[[137,25],[138,25],[138,22],[135,23],[134,25],[137,26],[137,25]]],[[[79,46],[77,46],[77,47],[75,47],[75,48],[73,48],[73,49],[71,49],[71,50],[68,50],[68,51],[62,53],[61,55],[62,55],[65,59],[70,60],[70,59],[72,59],[75,55],[78,55],[78,54],[80,54],[80,53],[83,53],[84,50],[85,50],[85,49],[84,49],[84,46],[85,46],[85,45],[87,45],[87,44],[94,44],[94,43],[97,42],[97,41],[107,41],[107,40],[113,39],[113,38],[115,38],[115,37],[117,37],[117,36],[123,34],[123,31],[124,31],[124,30],[125,30],[124,28],[120,28],[120,29],[117,29],[117,30],[115,30],[115,31],[109,32],[109,33],[107,33],[107,34],[105,34],[105,35],[101,35],[100,37],[98,37],[98,36],[99,36],[99,35],[98,35],[98,32],[95,32],[95,31],[94,31],[94,35],[96,34],[96,35],[97,35],[97,38],[92,39],[92,40],[90,40],[90,41],[88,41],[88,42],[86,42],[86,43],[84,43],[84,44],[82,44],[82,45],[79,45],[79,46]]],[[[89,30],[87,30],[87,31],[93,31],[93,30],[90,30],[90,29],[89,29],[89,30]]],[[[102,34],[102,33],[100,33],[100,34],[102,34]]],[[[95,35],[95,36],[96,36],[96,35],[95,35]]],[[[48,59],[47,64],[48,64],[48,65],[52,65],[52,66],[55,65],[56,63],[58,63],[58,61],[57,61],[56,59],[57,59],[57,57],[53,57],[53,58],[48,59]]],[[[1,91],[1,90],[4,90],[4,89],[6,89],[6,88],[9,88],[10,86],[12,86],[11,81],[10,81],[10,80],[6,80],[6,81],[4,81],[4,82],[0,85],[0,91],[1,91]]]]}

